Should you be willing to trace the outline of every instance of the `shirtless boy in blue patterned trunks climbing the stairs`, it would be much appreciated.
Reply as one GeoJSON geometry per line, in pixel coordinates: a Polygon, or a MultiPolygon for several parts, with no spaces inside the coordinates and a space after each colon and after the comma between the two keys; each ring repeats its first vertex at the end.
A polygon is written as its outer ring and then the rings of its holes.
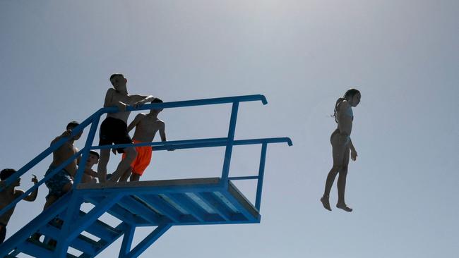
{"type": "MultiPolygon", "coordinates": [[[[54,140],[52,140],[51,145],[61,140],[62,137],[70,136],[73,128],[76,128],[77,125],[79,125],[79,123],[75,121],[68,123],[66,131],[58,137],[56,137],[54,140]]],[[[44,173],[44,176],[47,176],[49,173],[54,171],[54,168],[58,167],[64,161],[66,161],[68,158],[70,158],[78,152],[78,149],[75,146],[73,146],[73,142],[80,139],[82,133],[83,130],[80,133],[78,133],[78,135],[75,135],[68,139],[68,141],[65,142],[64,145],[62,145],[53,152],[52,163],[51,165],[49,165],[48,171],[44,173]]],[[[71,161],[70,164],[68,164],[64,169],[54,174],[52,178],[49,178],[49,180],[45,182],[47,188],[49,189],[49,194],[46,197],[46,203],[44,204],[43,209],[47,209],[49,205],[56,202],[57,199],[59,199],[62,195],[71,190],[73,185],[73,177],[76,175],[77,171],[78,159],[74,159],[73,161],[71,161]]]]}

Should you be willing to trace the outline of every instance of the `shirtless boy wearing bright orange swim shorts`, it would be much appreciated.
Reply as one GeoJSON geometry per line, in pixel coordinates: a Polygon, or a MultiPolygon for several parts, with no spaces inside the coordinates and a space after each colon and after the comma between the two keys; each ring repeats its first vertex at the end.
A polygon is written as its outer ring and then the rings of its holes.
{"type": "MultiPolygon", "coordinates": [[[[153,103],[162,103],[161,99],[154,99],[153,103]]],[[[134,132],[133,142],[152,142],[155,138],[156,132],[160,131],[161,141],[166,141],[165,133],[165,123],[157,118],[157,114],[160,113],[162,109],[151,109],[150,113],[139,113],[136,118],[129,124],[128,132],[130,132],[134,127],[136,131],[134,132]]],[[[172,149],[169,149],[172,150],[172,149]]],[[[129,173],[132,170],[131,181],[138,181],[142,176],[143,171],[147,168],[148,164],[151,161],[152,147],[150,146],[141,146],[136,147],[137,156],[136,159],[131,163],[131,169],[124,173],[121,177],[121,180],[127,180],[129,173]]],[[[123,154],[123,159],[126,155],[123,154]]]]}

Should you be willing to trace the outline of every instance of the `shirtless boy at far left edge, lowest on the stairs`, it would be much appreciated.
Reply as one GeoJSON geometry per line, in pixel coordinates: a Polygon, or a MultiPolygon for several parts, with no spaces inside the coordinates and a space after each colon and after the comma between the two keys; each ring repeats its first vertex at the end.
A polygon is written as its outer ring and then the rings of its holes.
{"type": "MultiPolygon", "coordinates": [[[[12,168],[6,168],[0,172],[0,179],[2,181],[6,180],[11,175],[13,175],[13,173],[16,173],[16,170],[12,168]]],[[[35,176],[32,178],[32,182],[34,184],[38,183],[38,180],[35,176]]],[[[4,207],[8,206],[16,198],[24,194],[23,190],[15,189],[16,186],[19,186],[19,185],[20,185],[20,178],[18,178],[16,182],[9,185],[8,188],[0,192],[0,209],[4,209],[4,207]]],[[[38,188],[35,189],[35,191],[33,191],[30,195],[24,197],[23,200],[28,201],[28,202],[33,202],[35,201],[35,199],[37,199],[37,195],[38,195],[38,188]]],[[[6,225],[8,224],[8,221],[10,220],[11,215],[13,215],[14,208],[16,208],[16,205],[0,216],[0,244],[4,242],[5,240],[6,225]]]]}

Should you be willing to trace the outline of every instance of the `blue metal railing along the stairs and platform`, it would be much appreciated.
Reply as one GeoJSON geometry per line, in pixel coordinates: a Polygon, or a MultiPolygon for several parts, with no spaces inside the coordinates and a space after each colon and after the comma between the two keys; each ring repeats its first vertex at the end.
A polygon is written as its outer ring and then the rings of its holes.
{"type": "Polygon", "coordinates": [[[93,146],[93,140],[95,137],[95,133],[97,130],[97,126],[100,121],[100,117],[104,113],[116,113],[119,110],[116,107],[108,107],[102,108],[92,116],[87,118],[83,121],[80,125],[72,130],[72,133],[68,137],[63,137],[59,141],[55,142],[52,146],[45,149],[42,153],[32,159],[28,164],[25,164],[22,168],[20,168],[16,173],[10,176],[8,179],[4,181],[3,185],[0,185],[0,191],[4,190],[8,185],[15,182],[17,178],[22,176],[24,173],[30,170],[33,166],[38,164],[44,158],[46,158],[49,154],[52,154],[56,149],[61,147],[68,139],[71,137],[78,135],[84,128],[90,125],[90,132],[85,142],[85,147],[81,149],[77,154],[71,156],[70,159],[64,161],[60,166],[56,167],[54,171],[49,173],[45,176],[42,180],[40,180],[36,185],[32,186],[28,191],[26,191],[23,195],[16,198],[11,204],[4,207],[4,209],[0,210],[1,214],[8,211],[20,202],[25,196],[29,195],[30,192],[37,189],[46,182],[49,178],[52,178],[58,171],[61,171],[65,166],[70,164],[71,161],[76,159],[76,157],[81,155],[80,164],[78,164],[78,171],[74,178],[73,189],[76,188],[76,185],[80,183],[81,178],[84,173],[85,168],[85,161],[88,158],[88,153],[90,149],[107,149],[107,148],[119,148],[119,147],[129,147],[129,146],[153,146],[155,150],[165,150],[165,149],[191,149],[191,148],[202,148],[202,147],[217,147],[217,146],[226,146],[225,148],[225,160],[222,168],[222,176],[221,182],[223,186],[227,186],[229,180],[242,180],[242,179],[258,179],[257,185],[257,194],[256,194],[256,208],[259,210],[260,208],[260,200],[261,200],[261,188],[263,185],[263,171],[264,171],[264,161],[266,159],[266,147],[268,143],[278,143],[278,142],[287,142],[288,145],[292,145],[292,141],[288,137],[278,137],[278,138],[263,138],[263,139],[252,139],[252,140],[234,140],[234,131],[236,127],[237,121],[237,113],[239,108],[240,102],[254,102],[254,101],[261,101],[263,104],[267,104],[266,97],[261,94],[256,95],[246,95],[246,96],[237,96],[237,97],[221,97],[221,98],[213,98],[213,99],[195,99],[195,100],[188,100],[188,101],[179,101],[179,102],[165,102],[165,103],[158,103],[158,104],[144,104],[138,108],[134,108],[133,106],[128,106],[126,111],[141,111],[146,109],[169,109],[169,108],[177,108],[177,107],[186,107],[186,106],[203,106],[203,105],[210,105],[210,104],[232,104],[232,112],[231,118],[229,121],[229,129],[227,137],[220,137],[220,138],[208,138],[208,139],[198,139],[198,140],[177,140],[177,141],[168,141],[168,142],[143,142],[138,144],[129,144],[129,145],[104,145],[104,146],[93,146]],[[249,178],[229,178],[229,165],[231,163],[231,154],[232,154],[232,147],[234,145],[262,145],[261,151],[261,163],[260,169],[258,172],[258,176],[251,176],[249,178]]]}

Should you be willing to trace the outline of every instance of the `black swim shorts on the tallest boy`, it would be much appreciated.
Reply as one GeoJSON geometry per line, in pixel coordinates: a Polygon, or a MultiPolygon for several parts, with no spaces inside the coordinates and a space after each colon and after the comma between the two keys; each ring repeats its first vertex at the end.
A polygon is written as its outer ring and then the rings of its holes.
{"type": "MultiPolygon", "coordinates": [[[[124,121],[107,117],[100,124],[99,145],[123,145],[132,143],[128,134],[128,126],[124,121]]],[[[124,153],[124,148],[117,149],[118,153],[124,153]]]]}

